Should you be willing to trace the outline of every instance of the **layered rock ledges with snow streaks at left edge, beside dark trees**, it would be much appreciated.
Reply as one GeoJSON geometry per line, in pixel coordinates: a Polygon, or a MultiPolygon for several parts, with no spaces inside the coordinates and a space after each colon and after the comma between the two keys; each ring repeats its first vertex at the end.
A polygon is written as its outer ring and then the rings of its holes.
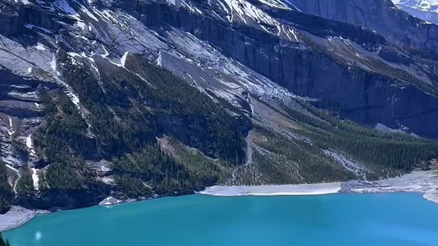
{"type": "Polygon", "coordinates": [[[36,161],[31,156],[31,133],[45,115],[40,105],[39,86],[50,85],[23,79],[5,70],[0,70],[0,77],[0,156],[5,163],[18,168],[23,163],[36,161]]]}

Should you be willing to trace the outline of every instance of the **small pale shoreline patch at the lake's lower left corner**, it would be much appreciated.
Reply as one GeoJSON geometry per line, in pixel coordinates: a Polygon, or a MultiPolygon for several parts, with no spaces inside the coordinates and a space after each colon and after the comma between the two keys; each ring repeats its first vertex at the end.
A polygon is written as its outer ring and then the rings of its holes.
{"type": "Polygon", "coordinates": [[[18,228],[31,219],[34,219],[36,215],[43,215],[47,213],[49,213],[49,211],[29,210],[22,208],[21,206],[12,206],[8,213],[0,215],[0,232],[18,228]]]}

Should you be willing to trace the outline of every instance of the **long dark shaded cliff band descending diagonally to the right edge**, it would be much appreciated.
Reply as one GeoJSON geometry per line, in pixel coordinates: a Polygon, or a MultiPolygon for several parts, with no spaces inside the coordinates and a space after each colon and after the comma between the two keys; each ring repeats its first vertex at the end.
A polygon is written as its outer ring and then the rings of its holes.
{"type": "MultiPolygon", "coordinates": [[[[300,5],[297,6],[299,8],[300,5]]],[[[390,69],[400,69],[394,64],[402,64],[404,62],[402,58],[406,55],[397,50],[395,52],[389,50],[385,57],[382,50],[388,44],[372,31],[286,10],[272,12],[272,16],[281,18],[283,22],[294,23],[295,27],[305,30],[305,32],[298,31],[300,33],[298,40],[305,41],[284,42],[279,37],[255,28],[245,26],[231,28],[201,14],[192,14],[182,8],[175,9],[165,4],[145,4],[141,9],[142,22],[145,25],[153,28],[159,23],[168,23],[173,27],[190,31],[194,36],[218,46],[224,54],[272,79],[294,94],[318,98],[320,100],[318,106],[339,111],[342,118],[368,126],[381,123],[391,128],[407,127],[417,135],[438,137],[435,131],[435,126],[438,124],[438,107],[435,106],[438,102],[437,98],[425,94],[415,86],[403,85],[404,77],[394,75],[395,72],[391,73],[390,69]],[[324,24],[318,25],[322,22],[324,24]],[[329,29],[331,33],[325,31],[329,29]],[[388,66],[378,58],[372,57],[369,61],[360,59],[352,61],[350,64],[359,65],[357,68],[351,68],[348,64],[350,61],[339,62],[339,59],[344,59],[339,57],[339,53],[331,54],[323,50],[333,48],[321,49],[314,46],[321,41],[309,35],[307,31],[321,38],[335,34],[350,38],[357,44],[363,45],[365,49],[374,52],[376,57],[381,55],[393,65],[388,66]],[[401,55],[397,56],[398,53],[401,55]],[[391,54],[395,57],[390,57],[391,54]],[[377,62],[383,63],[382,66],[388,66],[389,69],[376,71],[378,69],[376,66],[380,65],[369,63],[377,62]],[[370,70],[363,69],[361,64],[366,64],[365,66],[369,66],[370,70]],[[415,105],[415,107],[406,105],[415,105]]],[[[342,41],[340,44],[337,41],[339,40],[333,41],[334,49],[343,45],[342,41]]],[[[350,54],[353,56],[365,52],[360,46],[352,49],[357,49],[356,54],[350,54]]],[[[410,64],[414,62],[410,61],[407,66],[410,64]]],[[[432,71],[430,74],[436,76],[435,66],[432,71]]]]}

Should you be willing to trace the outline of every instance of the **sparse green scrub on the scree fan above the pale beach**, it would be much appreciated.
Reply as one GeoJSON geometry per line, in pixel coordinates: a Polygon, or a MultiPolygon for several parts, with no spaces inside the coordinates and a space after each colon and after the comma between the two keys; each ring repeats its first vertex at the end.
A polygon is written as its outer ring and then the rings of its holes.
{"type": "Polygon", "coordinates": [[[253,152],[253,162],[270,183],[331,182],[356,178],[314,146],[302,139],[289,139],[265,128],[255,128],[264,141],[255,140],[263,151],[253,152]]]}

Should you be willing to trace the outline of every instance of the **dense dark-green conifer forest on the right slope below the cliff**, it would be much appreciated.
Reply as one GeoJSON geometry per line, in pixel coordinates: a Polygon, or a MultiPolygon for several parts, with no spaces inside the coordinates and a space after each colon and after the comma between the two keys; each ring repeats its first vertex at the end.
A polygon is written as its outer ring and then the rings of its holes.
{"type": "Polygon", "coordinates": [[[372,165],[401,169],[406,172],[424,165],[438,154],[438,142],[403,133],[382,133],[339,120],[321,109],[302,104],[321,120],[286,109],[303,126],[300,135],[311,139],[315,148],[342,150],[359,161],[372,165]]]}

